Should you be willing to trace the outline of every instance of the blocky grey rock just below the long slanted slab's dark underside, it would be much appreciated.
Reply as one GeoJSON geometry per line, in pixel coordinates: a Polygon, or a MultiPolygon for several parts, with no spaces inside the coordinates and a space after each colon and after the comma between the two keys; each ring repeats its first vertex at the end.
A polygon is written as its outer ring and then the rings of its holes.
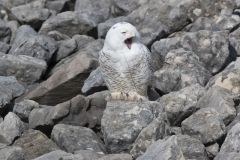
{"type": "Polygon", "coordinates": [[[53,126],[59,119],[66,117],[69,114],[70,102],[64,102],[54,107],[45,106],[43,108],[35,108],[29,115],[29,127],[38,128],[53,126]]]}

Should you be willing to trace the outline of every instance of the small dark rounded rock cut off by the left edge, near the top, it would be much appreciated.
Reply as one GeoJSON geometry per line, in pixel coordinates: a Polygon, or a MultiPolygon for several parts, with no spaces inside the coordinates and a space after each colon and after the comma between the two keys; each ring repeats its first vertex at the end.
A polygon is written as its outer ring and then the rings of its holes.
{"type": "Polygon", "coordinates": [[[11,39],[11,29],[6,22],[0,19],[0,42],[8,43],[11,39]]]}

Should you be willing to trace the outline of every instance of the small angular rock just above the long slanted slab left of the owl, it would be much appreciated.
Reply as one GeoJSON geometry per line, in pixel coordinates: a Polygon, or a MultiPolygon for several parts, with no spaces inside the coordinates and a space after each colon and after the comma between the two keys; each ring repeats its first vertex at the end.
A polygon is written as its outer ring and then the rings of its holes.
{"type": "Polygon", "coordinates": [[[59,47],[55,58],[55,61],[57,62],[72,54],[77,49],[77,42],[75,39],[67,39],[58,41],[58,46],[59,47]]]}

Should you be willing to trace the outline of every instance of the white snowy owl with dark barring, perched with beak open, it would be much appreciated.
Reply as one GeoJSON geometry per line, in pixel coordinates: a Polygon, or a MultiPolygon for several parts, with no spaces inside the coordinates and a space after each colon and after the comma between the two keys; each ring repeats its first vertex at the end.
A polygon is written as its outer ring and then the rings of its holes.
{"type": "Polygon", "coordinates": [[[120,22],[107,32],[99,55],[100,71],[111,100],[147,100],[152,77],[151,55],[130,23],[120,22]]]}

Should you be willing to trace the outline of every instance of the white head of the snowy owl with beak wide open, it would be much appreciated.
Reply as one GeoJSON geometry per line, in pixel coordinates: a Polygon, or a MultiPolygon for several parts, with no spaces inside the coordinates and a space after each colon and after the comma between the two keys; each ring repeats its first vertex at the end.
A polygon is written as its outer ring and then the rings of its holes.
{"type": "Polygon", "coordinates": [[[104,47],[112,50],[129,49],[140,40],[140,34],[130,23],[119,22],[107,32],[104,47]]]}

